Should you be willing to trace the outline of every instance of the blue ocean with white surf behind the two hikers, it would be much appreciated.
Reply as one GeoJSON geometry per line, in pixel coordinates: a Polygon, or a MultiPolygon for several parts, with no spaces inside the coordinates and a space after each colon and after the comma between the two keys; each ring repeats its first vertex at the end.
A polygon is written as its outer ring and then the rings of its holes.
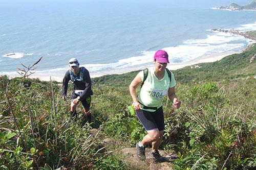
{"type": "Polygon", "coordinates": [[[225,1],[15,1],[0,5],[0,75],[32,65],[36,73],[64,75],[70,58],[90,74],[142,69],[164,49],[182,63],[239,53],[252,40],[211,29],[256,30],[256,11],[217,10],[225,1]]]}

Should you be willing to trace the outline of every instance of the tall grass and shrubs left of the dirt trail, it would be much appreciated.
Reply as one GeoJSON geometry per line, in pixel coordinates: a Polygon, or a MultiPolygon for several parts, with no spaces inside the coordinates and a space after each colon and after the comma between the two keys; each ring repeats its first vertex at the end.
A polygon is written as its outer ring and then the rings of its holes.
{"type": "Polygon", "coordinates": [[[69,102],[61,100],[57,82],[25,80],[22,86],[6,77],[0,82],[6,90],[0,91],[1,169],[100,169],[105,158],[122,165],[102,145],[101,128],[92,135],[88,126],[80,128],[79,120],[68,122],[69,102]]]}

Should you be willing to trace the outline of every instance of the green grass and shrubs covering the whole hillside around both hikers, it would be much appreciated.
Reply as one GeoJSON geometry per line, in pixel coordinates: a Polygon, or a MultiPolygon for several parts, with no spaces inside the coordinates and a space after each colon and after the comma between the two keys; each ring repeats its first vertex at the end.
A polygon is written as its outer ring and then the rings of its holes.
{"type": "MultiPolygon", "coordinates": [[[[255,53],[256,45],[201,68],[174,71],[182,106],[173,109],[163,99],[160,146],[178,155],[174,169],[256,167],[256,80],[247,79],[256,74],[255,62],[249,64],[255,53]]],[[[0,168],[136,169],[119,151],[146,134],[128,109],[127,86],[137,72],[93,79],[93,123],[83,128],[79,119],[69,119],[70,101],[61,99],[58,82],[0,77],[0,168]],[[92,135],[89,126],[97,132],[92,135]],[[105,147],[104,138],[114,141],[105,147]]]]}

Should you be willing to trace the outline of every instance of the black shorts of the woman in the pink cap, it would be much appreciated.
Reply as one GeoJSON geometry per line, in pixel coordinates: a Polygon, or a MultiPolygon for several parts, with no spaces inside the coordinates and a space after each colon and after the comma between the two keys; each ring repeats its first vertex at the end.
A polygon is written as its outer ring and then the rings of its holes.
{"type": "Polygon", "coordinates": [[[154,112],[140,109],[136,111],[136,115],[146,131],[153,129],[162,131],[164,129],[163,107],[158,108],[154,112]]]}

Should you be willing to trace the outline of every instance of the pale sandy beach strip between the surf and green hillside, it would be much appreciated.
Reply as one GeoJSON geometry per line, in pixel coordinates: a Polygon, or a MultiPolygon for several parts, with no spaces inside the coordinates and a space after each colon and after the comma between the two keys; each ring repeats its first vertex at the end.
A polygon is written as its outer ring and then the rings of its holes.
{"type": "MultiPolygon", "coordinates": [[[[180,68],[183,68],[183,67],[186,67],[186,66],[193,66],[195,64],[199,64],[199,63],[210,63],[210,62],[215,62],[215,61],[218,61],[218,60],[221,60],[222,58],[226,57],[226,56],[229,56],[229,55],[232,55],[232,54],[236,54],[234,52],[225,52],[225,53],[218,53],[218,54],[215,54],[215,55],[208,55],[208,56],[205,56],[205,57],[199,57],[199,58],[196,58],[196,59],[193,59],[193,60],[190,60],[190,61],[187,61],[187,62],[182,62],[182,63],[169,63],[167,65],[167,68],[170,69],[170,70],[177,70],[177,69],[180,69],[180,68]]],[[[150,67],[153,67],[153,64],[152,65],[148,65],[146,66],[147,68],[150,68],[150,67]]],[[[101,77],[101,76],[104,76],[104,75],[114,75],[114,74],[124,74],[124,73],[127,73],[127,72],[131,72],[131,71],[136,71],[136,70],[141,70],[141,69],[144,69],[145,67],[138,67],[138,68],[134,68],[134,69],[125,69],[125,70],[120,70],[120,71],[113,71],[113,72],[103,72],[102,74],[90,74],[91,78],[95,78],[95,77],[101,77]]],[[[50,78],[51,80],[53,81],[57,81],[57,82],[62,82],[62,79],[63,79],[63,76],[64,75],[42,75],[42,74],[37,74],[35,72],[35,74],[31,75],[29,78],[32,78],[32,79],[36,79],[38,78],[39,80],[41,81],[50,81],[50,78]]],[[[20,77],[18,74],[15,74],[15,75],[7,75],[8,78],[15,78],[15,77],[20,77]]]]}

